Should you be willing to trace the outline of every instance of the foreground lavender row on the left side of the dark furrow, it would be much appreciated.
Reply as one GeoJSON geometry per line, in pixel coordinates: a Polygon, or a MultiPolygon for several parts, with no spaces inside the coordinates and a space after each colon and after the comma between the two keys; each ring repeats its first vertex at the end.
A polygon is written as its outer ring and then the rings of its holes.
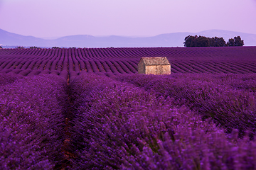
{"type": "Polygon", "coordinates": [[[0,169],[60,167],[66,81],[53,75],[2,77],[9,84],[0,87],[0,169]]]}

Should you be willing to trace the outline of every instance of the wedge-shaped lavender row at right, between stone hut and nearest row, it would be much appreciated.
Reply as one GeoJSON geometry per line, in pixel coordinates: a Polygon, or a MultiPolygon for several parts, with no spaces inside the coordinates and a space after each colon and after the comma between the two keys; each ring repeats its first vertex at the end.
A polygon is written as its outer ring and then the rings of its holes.
{"type": "Polygon", "coordinates": [[[227,132],[235,128],[240,135],[246,130],[255,135],[255,74],[127,74],[117,79],[174,98],[175,105],[185,105],[206,118],[213,118],[227,132]]]}

